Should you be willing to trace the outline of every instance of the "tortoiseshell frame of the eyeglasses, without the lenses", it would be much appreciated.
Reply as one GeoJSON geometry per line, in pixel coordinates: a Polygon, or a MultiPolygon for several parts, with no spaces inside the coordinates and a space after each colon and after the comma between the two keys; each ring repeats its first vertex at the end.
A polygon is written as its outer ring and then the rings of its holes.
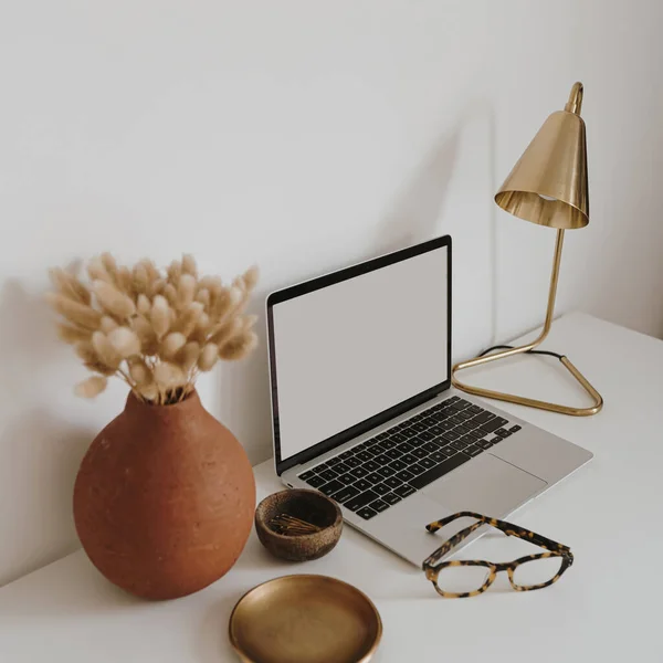
{"type": "Polygon", "coordinates": [[[508,573],[508,580],[516,591],[532,591],[534,589],[543,589],[544,587],[552,585],[552,582],[557,582],[560,576],[573,564],[573,554],[571,552],[571,549],[568,546],[558,544],[557,541],[550,540],[549,538],[546,538],[540,534],[536,534],[534,532],[530,532],[529,529],[518,527],[517,525],[512,525],[511,523],[506,523],[505,520],[488,518],[487,516],[482,516],[481,514],[475,514],[473,512],[460,512],[457,514],[453,514],[452,516],[442,518],[442,520],[435,520],[434,523],[430,523],[425,526],[425,528],[431,533],[435,533],[438,532],[438,529],[444,527],[444,525],[449,525],[449,523],[452,523],[457,518],[475,518],[476,523],[470,525],[470,527],[465,527],[465,529],[461,529],[461,532],[452,536],[449,540],[444,541],[444,544],[442,544],[442,546],[440,546],[432,555],[427,557],[423,564],[421,565],[421,568],[425,572],[425,577],[433,583],[435,591],[442,597],[449,599],[464,599],[466,597],[476,597],[480,593],[486,591],[486,589],[488,589],[488,587],[493,585],[499,571],[506,571],[508,573]],[[446,555],[451,549],[455,548],[455,546],[457,546],[463,539],[467,538],[482,525],[491,525],[492,527],[496,527],[501,532],[504,532],[504,534],[506,534],[507,536],[516,536],[518,538],[536,544],[537,546],[540,546],[541,548],[548,550],[548,552],[539,552],[538,555],[527,555],[526,557],[520,557],[514,561],[505,564],[494,564],[492,561],[485,561],[481,559],[452,559],[451,561],[443,561],[438,565],[435,564],[439,559],[444,557],[444,555],[446,555]],[[559,567],[559,571],[554,578],[551,578],[547,582],[532,586],[520,586],[514,581],[514,571],[516,567],[533,559],[545,559],[547,557],[561,557],[561,566],[559,567]],[[438,577],[440,576],[440,571],[442,571],[446,567],[457,566],[483,566],[490,570],[490,573],[483,587],[474,591],[452,593],[440,589],[438,587],[438,577]]]}

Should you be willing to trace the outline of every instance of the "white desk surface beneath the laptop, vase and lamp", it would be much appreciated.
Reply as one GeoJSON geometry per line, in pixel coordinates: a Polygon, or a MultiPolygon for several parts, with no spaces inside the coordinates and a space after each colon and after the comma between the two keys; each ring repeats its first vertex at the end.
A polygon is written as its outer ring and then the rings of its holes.
{"type": "MultiPolygon", "coordinates": [[[[0,589],[0,661],[233,661],[227,629],[235,601],[264,580],[302,572],[341,578],[375,600],[383,662],[663,661],[663,343],[572,314],[556,323],[545,347],[568,354],[606,400],[589,419],[506,407],[596,454],[512,518],[573,550],[573,567],[551,588],[516,593],[498,579],[481,597],[444,600],[421,571],[346,528],[329,556],[305,565],[272,559],[252,535],[212,587],[146,603],[107,583],[78,551],[0,589]]],[[[470,378],[580,398],[552,359],[515,359],[470,378]]],[[[255,475],[259,498],[282,487],[271,463],[255,475]]],[[[520,545],[486,536],[461,556],[504,561],[519,556],[520,545]]]]}

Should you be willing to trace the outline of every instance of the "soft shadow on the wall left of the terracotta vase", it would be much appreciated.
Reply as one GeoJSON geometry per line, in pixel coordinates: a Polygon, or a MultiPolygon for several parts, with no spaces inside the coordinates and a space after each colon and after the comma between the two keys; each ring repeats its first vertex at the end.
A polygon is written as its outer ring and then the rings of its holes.
{"type": "Polygon", "coordinates": [[[94,431],[54,413],[62,351],[41,297],[17,281],[0,294],[0,586],[75,549],[72,491],[94,431]]]}

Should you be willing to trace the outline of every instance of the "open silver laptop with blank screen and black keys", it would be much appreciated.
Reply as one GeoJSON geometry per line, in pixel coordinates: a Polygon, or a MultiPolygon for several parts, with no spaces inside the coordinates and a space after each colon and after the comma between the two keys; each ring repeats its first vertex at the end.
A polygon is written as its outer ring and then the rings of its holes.
{"type": "Polygon", "coordinates": [[[504,518],[592,457],[452,388],[451,263],[446,235],[266,303],[276,473],[417,566],[428,523],[504,518]]]}

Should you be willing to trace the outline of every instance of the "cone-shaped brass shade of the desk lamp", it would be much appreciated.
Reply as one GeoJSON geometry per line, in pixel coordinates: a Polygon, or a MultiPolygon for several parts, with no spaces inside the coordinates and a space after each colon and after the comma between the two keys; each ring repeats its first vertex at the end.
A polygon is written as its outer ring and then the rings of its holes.
{"type": "Polygon", "coordinates": [[[495,202],[503,210],[559,230],[589,223],[581,102],[582,85],[576,83],[566,108],[548,117],[495,194],[495,202]]]}

